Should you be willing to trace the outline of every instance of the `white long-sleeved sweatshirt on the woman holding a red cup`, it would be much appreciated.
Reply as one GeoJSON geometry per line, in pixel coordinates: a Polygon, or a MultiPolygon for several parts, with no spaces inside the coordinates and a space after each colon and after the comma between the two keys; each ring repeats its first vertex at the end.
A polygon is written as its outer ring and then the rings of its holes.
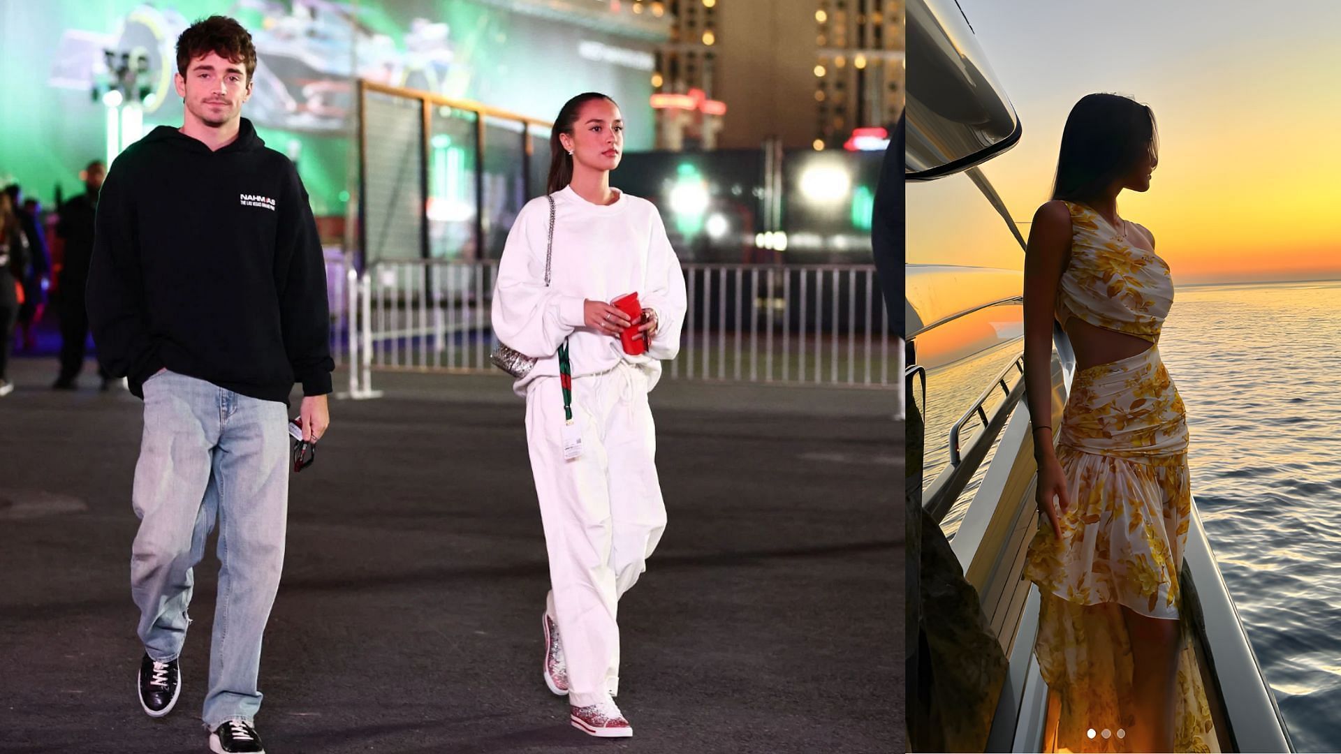
{"type": "Polygon", "coordinates": [[[540,360],[514,390],[524,396],[531,380],[559,374],[565,338],[574,377],[609,372],[622,360],[648,370],[650,389],[661,376],[660,360],[680,352],[685,313],[684,275],[657,208],[624,192],[602,207],[566,186],[554,195],[554,209],[550,287],[544,286],[550,204],[543,196],[522,208],[499,262],[493,331],[506,345],[540,360]],[[634,291],[644,307],[657,313],[657,331],[642,356],[624,353],[618,337],[583,323],[585,299],[610,302],[634,291]]]}

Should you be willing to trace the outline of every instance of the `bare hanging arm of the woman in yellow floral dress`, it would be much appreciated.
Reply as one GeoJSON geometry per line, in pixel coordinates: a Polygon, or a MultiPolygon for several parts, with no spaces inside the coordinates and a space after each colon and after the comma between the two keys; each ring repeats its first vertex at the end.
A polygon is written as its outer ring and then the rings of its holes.
{"type": "Polygon", "coordinates": [[[1025,393],[1038,460],[1038,504],[1061,538],[1053,496],[1065,511],[1070,500],[1053,449],[1053,321],[1057,287],[1071,250],[1071,213],[1062,201],[1049,201],[1034,213],[1025,252],[1025,393]]]}

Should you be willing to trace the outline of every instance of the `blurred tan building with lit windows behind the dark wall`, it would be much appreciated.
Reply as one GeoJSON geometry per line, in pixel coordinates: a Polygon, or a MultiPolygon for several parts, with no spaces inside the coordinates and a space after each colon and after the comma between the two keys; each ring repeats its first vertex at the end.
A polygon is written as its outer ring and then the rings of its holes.
{"type": "Polygon", "coordinates": [[[902,111],[902,0],[633,0],[669,17],[658,149],[841,148],[902,111]]]}

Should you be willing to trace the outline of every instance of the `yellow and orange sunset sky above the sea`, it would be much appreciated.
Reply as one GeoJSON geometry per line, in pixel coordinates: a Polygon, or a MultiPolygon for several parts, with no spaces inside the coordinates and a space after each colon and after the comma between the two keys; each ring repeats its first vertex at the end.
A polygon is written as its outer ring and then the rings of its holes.
{"type": "MultiPolygon", "coordinates": [[[[960,5],[1023,123],[1021,142],[984,166],[1016,221],[1047,199],[1075,101],[1126,94],[1155,110],[1160,165],[1118,212],[1151,228],[1175,282],[1341,278],[1341,3],[960,5]]],[[[925,241],[947,224],[932,197],[966,184],[911,186],[909,262],[936,260],[925,241]]],[[[971,215],[970,225],[1000,224],[990,209],[971,215]]],[[[957,227],[957,248],[979,232],[1000,236],[957,227]]],[[[956,262],[1022,264],[1018,247],[978,254],[956,262]]]]}

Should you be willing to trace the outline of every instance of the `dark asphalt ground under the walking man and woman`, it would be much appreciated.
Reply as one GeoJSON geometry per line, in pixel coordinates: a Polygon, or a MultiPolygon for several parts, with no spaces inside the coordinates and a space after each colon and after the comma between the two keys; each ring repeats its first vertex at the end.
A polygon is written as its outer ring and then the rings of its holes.
{"type": "MultiPolygon", "coordinates": [[[[141,402],[58,393],[16,358],[0,398],[0,751],[205,751],[217,559],[197,568],[176,710],[139,710],[130,600],[141,402]]],[[[337,376],[337,389],[347,377],[337,376]]],[[[502,377],[374,373],[292,478],[261,657],[267,750],[902,751],[902,424],[893,393],[664,381],[669,526],[620,605],[630,739],[567,722],[540,679],[548,573],[502,377]]]]}

